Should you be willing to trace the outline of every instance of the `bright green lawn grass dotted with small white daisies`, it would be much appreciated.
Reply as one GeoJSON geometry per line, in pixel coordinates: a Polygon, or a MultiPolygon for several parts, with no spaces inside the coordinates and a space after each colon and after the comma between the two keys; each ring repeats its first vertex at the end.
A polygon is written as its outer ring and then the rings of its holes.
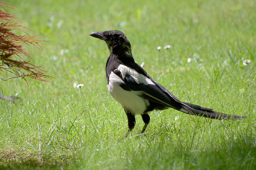
{"type": "Polygon", "coordinates": [[[27,49],[32,63],[55,78],[29,79],[29,88],[20,79],[0,81],[1,94],[23,100],[0,100],[0,169],[256,168],[254,1],[8,3],[30,35],[45,36],[42,51],[27,49]],[[110,29],[126,34],[135,61],[181,101],[247,118],[153,111],[146,134],[137,116],[123,139],[127,118],[106,88],[107,45],[89,36],[110,29]],[[84,99],[74,83],[85,84],[84,99]]]}

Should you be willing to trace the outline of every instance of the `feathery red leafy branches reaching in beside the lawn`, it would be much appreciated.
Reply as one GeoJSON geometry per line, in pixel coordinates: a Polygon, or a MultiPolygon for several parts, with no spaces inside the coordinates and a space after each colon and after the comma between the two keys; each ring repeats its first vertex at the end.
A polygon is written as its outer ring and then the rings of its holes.
{"type": "MultiPolygon", "coordinates": [[[[14,21],[14,15],[8,14],[6,8],[11,8],[0,2],[0,79],[8,80],[12,78],[22,78],[26,81],[27,77],[37,79],[40,81],[46,81],[44,78],[49,78],[51,76],[45,75],[41,66],[35,66],[30,63],[30,61],[25,61],[22,57],[31,58],[31,54],[25,51],[24,45],[34,45],[36,48],[42,50],[40,44],[43,41],[37,40],[37,37],[41,35],[30,36],[24,30],[27,29],[22,25],[18,25],[14,21]],[[22,31],[25,35],[16,35],[13,31],[22,31]],[[3,72],[9,72],[13,76],[6,78],[3,76],[3,72]]],[[[33,60],[33,59],[32,59],[33,60]]]]}

